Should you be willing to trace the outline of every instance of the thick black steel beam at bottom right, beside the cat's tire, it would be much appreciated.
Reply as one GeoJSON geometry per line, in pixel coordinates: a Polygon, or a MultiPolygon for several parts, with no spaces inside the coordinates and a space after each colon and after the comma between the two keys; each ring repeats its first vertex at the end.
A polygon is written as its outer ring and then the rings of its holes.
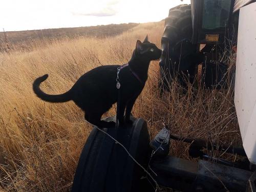
{"type": "Polygon", "coordinates": [[[157,174],[158,184],[182,191],[246,191],[252,175],[247,170],[211,163],[193,162],[167,156],[163,161],[153,161],[151,168],[157,174]]]}

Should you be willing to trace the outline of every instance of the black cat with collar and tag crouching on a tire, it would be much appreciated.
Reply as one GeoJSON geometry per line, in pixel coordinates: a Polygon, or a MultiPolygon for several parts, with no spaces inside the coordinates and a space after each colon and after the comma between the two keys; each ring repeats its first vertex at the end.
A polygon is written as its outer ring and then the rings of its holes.
{"type": "Polygon", "coordinates": [[[48,78],[48,74],[38,77],[33,82],[33,91],[37,97],[48,102],[66,102],[73,100],[84,112],[84,118],[98,127],[111,127],[114,122],[100,120],[111,106],[117,102],[117,68],[120,81],[119,124],[130,122],[130,114],[135,100],[141,93],[147,80],[147,71],[151,60],[159,59],[161,50],[147,40],[137,40],[136,49],[126,66],[108,65],[97,67],[83,74],[66,93],[49,95],[39,88],[40,83],[48,78]],[[124,110],[125,119],[123,117],[124,110]]]}

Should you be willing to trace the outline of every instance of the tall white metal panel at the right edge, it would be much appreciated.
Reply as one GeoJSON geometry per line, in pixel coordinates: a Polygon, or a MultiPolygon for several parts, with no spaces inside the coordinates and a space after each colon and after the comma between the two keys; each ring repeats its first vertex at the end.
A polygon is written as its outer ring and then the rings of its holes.
{"type": "Polygon", "coordinates": [[[256,3],[240,9],[234,103],[243,146],[256,164],[256,3]]]}

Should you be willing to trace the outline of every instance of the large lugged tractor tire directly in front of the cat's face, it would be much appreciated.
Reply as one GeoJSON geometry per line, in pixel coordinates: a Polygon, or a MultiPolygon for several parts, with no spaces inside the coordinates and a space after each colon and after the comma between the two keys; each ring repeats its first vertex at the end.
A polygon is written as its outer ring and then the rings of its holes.
{"type": "Polygon", "coordinates": [[[161,40],[161,90],[168,91],[175,78],[183,87],[194,81],[200,56],[197,45],[191,44],[192,34],[191,6],[179,5],[170,9],[161,40]]]}

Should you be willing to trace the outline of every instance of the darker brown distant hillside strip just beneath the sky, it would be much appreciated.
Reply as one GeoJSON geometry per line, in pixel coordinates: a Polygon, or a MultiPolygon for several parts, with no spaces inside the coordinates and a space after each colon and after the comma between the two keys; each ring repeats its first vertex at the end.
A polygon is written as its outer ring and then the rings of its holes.
{"type": "Polygon", "coordinates": [[[59,29],[42,29],[28,31],[7,31],[0,32],[0,52],[10,49],[16,50],[31,50],[38,41],[44,44],[45,41],[52,42],[61,38],[74,38],[79,36],[89,37],[108,37],[121,34],[122,32],[131,29],[138,24],[111,24],[91,27],[74,27],[74,28],[59,28],[59,29]],[[6,35],[6,36],[5,36],[6,35]],[[47,40],[46,40],[47,39],[47,40]],[[8,42],[8,47],[6,46],[8,42]]]}

